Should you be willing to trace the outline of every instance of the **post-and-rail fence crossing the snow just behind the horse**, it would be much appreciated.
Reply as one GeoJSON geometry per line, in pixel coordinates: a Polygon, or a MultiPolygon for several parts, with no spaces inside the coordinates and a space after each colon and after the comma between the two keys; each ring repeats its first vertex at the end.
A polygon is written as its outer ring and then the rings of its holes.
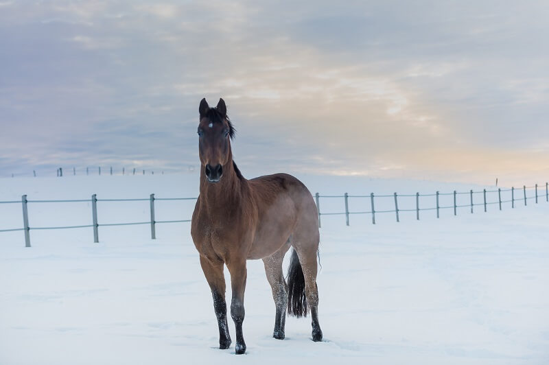
{"type": "MultiPolygon", "coordinates": [[[[372,224],[375,224],[375,215],[376,214],[382,214],[382,213],[395,213],[396,221],[400,222],[399,212],[415,212],[416,213],[416,219],[419,220],[420,218],[420,212],[421,211],[434,211],[436,210],[436,217],[440,217],[440,211],[441,209],[454,209],[454,215],[457,215],[458,208],[469,208],[471,210],[471,213],[474,213],[474,207],[476,206],[483,206],[484,212],[487,212],[487,206],[492,204],[499,204],[499,210],[502,210],[502,204],[511,202],[511,207],[515,208],[515,203],[519,204],[524,201],[524,205],[526,206],[528,204],[528,200],[535,199],[535,203],[537,204],[539,198],[543,198],[545,196],[546,202],[549,202],[549,183],[545,183],[545,193],[539,195],[539,186],[533,185],[531,187],[526,187],[524,185],[522,189],[515,189],[515,187],[511,187],[511,189],[497,189],[497,190],[487,190],[483,189],[482,191],[473,191],[469,190],[466,192],[457,192],[453,191],[452,193],[440,193],[439,191],[436,191],[436,193],[432,194],[402,194],[399,195],[397,193],[393,193],[391,195],[375,195],[374,193],[371,193],[369,196],[353,196],[349,195],[347,193],[344,193],[342,196],[321,196],[319,193],[315,194],[315,200],[316,200],[316,207],[318,208],[318,226],[321,226],[321,217],[323,215],[345,215],[345,221],[347,226],[349,226],[349,215],[360,215],[360,214],[371,214],[372,218],[372,224]],[[527,189],[535,189],[535,195],[534,196],[527,196],[526,190],[527,189]],[[522,191],[522,197],[515,197],[515,192],[517,194],[522,191]],[[508,200],[502,200],[502,192],[503,193],[509,193],[511,192],[511,199],[508,200]],[[487,193],[498,193],[498,200],[493,202],[487,201],[487,193]],[[482,202],[475,203],[474,202],[474,195],[475,194],[482,194],[482,202]],[[439,204],[440,197],[441,196],[453,196],[453,202],[452,205],[446,205],[441,206],[439,204]],[[468,204],[458,204],[457,198],[458,196],[468,196],[469,202],[468,204]],[[415,207],[414,209],[399,209],[399,198],[415,198],[415,207]],[[421,197],[435,197],[436,198],[436,205],[434,207],[428,207],[428,208],[420,208],[420,198],[421,197]],[[328,199],[334,199],[334,198],[342,198],[344,200],[344,212],[325,212],[322,213],[320,211],[320,198],[328,198],[328,199]],[[370,211],[349,211],[349,198],[369,198],[370,200],[370,211]],[[376,211],[376,203],[375,198],[382,199],[382,198],[389,198],[391,200],[391,204],[393,204],[394,201],[394,207],[395,209],[383,209],[376,211]]],[[[140,224],[150,224],[150,236],[151,239],[156,239],[156,224],[165,224],[165,223],[183,223],[183,222],[191,222],[191,220],[155,220],[155,209],[154,209],[154,202],[156,200],[196,200],[196,198],[155,198],[154,194],[150,194],[149,198],[137,198],[137,199],[97,199],[97,195],[93,194],[91,196],[91,199],[84,199],[84,200],[27,200],[27,196],[23,195],[21,197],[21,201],[19,200],[11,200],[11,201],[0,201],[0,204],[21,204],[22,210],[23,210],[23,228],[10,228],[10,229],[0,229],[0,233],[5,232],[13,232],[13,231],[23,231],[25,233],[25,246],[30,247],[30,231],[34,230],[48,230],[48,229],[71,229],[71,228],[93,228],[93,242],[97,243],[99,242],[99,227],[100,226],[132,226],[132,225],[140,225],[140,224]],[[150,202],[150,220],[146,222],[125,222],[125,223],[108,223],[108,224],[98,224],[97,220],[97,202],[138,202],[138,201],[149,201],[150,202]],[[81,226],[55,226],[55,227],[31,227],[29,223],[29,215],[28,215],[28,204],[40,204],[40,203],[72,203],[72,202],[91,202],[91,213],[92,213],[92,224],[86,224],[81,226]]]]}

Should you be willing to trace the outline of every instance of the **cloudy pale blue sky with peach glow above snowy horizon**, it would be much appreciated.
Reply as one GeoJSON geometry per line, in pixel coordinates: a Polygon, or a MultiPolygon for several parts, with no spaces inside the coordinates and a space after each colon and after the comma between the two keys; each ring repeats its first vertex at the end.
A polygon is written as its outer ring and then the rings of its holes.
{"type": "Polygon", "coordinates": [[[0,0],[0,176],[200,168],[222,97],[244,176],[549,179],[547,1],[0,0]]]}

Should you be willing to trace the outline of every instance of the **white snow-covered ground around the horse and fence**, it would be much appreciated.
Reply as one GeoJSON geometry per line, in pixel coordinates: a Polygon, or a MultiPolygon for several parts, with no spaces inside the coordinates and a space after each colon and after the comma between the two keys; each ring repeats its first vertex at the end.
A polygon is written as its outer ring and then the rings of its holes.
{"type": "MultiPolygon", "coordinates": [[[[326,195],[478,189],[300,177],[326,195]]],[[[0,180],[0,200],[23,193],[30,200],[196,196],[198,178],[0,180]]],[[[360,199],[349,200],[351,211],[369,210],[369,200],[360,199]]],[[[401,209],[414,207],[414,198],[402,199],[401,209]]],[[[394,201],[379,204],[392,209],[394,201]]],[[[320,205],[344,209],[338,198],[320,205]]],[[[193,207],[158,201],[156,219],[188,219],[193,207]]],[[[91,224],[89,202],[29,209],[31,226],[91,224]]],[[[462,208],[454,217],[445,209],[439,220],[425,211],[419,222],[414,212],[402,212],[400,223],[394,213],[380,213],[375,225],[370,215],[351,215],[351,226],[342,215],[323,216],[318,288],[325,341],[310,340],[308,318],[288,318],[286,339],[271,338],[270,287],[261,261],[248,261],[244,356],[234,355],[234,343],[217,349],[211,295],[188,223],[159,224],[154,241],[146,225],[100,227],[99,244],[91,228],[31,231],[32,248],[24,247],[23,232],[0,233],[0,364],[548,364],[549,203],[488,210],[475,207],[471,215],[462,208]]],[[[100,224],[141,222],[149,205],[100,202],[98,211],[100,224]]],[[[0,218],[0,229],[20,227],[21,205],[0,204],[0,218]]]]}

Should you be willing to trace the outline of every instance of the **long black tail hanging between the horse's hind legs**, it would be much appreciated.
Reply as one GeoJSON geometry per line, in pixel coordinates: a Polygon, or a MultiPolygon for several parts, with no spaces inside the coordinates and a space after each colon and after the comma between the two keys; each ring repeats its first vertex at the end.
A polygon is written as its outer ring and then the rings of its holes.
{"type": "Polygon", "coordinates": [[[292,249],[292,259],[288,268],[288,314],[297,318],[307,317],[307,298],[305,298],[305,276],[296,250],[292,249]]]}

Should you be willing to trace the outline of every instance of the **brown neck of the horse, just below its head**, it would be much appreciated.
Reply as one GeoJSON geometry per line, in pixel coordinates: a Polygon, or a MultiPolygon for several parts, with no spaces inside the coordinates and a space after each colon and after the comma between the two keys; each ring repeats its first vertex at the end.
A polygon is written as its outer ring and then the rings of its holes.
{"type": "Polygon", "coordinates": [[[208,207],[234,206],[240,202],[242,195],[242,184],[244,183],[237,176],[233,161],[227,163],[219,183],[209,183],[206,174],[200,172],[200,200],[201,204],[208,207]]]}

